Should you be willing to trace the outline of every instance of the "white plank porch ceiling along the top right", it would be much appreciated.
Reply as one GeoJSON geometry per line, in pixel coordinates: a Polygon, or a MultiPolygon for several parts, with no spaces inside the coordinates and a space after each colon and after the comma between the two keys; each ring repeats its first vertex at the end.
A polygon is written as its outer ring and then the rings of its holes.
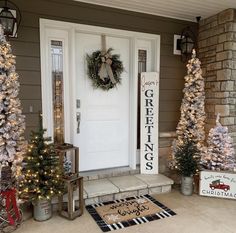
{"type": "Polygon", "coordinates": [[[196,21],[219,13],[227,8],[236,8],[236,0],[75,0],[170,18],[196,21]]]}

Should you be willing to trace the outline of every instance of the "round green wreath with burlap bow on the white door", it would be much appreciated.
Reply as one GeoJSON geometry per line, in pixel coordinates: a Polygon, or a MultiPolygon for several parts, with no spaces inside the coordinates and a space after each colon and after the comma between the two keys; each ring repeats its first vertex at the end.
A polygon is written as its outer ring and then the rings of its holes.
{"type": "Polygon", "coordinates": [[[120,56],[112,55],[109,48],[104,54],[101,50],[87,54],[88,77],[93,82],[94,88],[109,90],[121,83],[120,75],[124,71],[120,56]]]}

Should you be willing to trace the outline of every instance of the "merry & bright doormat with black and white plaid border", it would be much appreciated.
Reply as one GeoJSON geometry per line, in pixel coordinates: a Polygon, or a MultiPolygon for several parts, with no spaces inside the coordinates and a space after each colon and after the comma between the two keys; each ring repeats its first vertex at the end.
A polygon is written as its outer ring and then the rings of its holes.
{"type": "Polygon", "coordinates": [[[148,194],[88,205],[86,209],[103,232],[176,215],[148,194]]]}

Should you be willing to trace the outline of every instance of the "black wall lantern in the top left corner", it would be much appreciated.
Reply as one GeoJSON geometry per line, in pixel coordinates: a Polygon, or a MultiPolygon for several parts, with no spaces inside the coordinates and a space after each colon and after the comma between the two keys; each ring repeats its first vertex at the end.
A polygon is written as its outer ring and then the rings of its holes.
{"type": "Polygon", "coordinates": [[[7,37],[16,37],[17,29],[21,22],[21,13],[17,5],[11,1],[0,0],[0,23],[7,37]]]}

